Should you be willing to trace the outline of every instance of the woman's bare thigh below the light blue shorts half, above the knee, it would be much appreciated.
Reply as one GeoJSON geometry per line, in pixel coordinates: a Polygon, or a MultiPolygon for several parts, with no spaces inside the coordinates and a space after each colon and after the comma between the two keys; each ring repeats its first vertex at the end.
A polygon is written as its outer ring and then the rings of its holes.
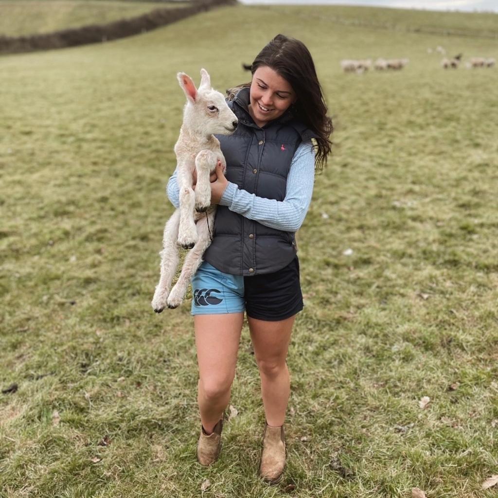
{"type": "Polygon", "coordinates": [[[244,313],[194,316],[201,382],[232,384],[244,313]]]}

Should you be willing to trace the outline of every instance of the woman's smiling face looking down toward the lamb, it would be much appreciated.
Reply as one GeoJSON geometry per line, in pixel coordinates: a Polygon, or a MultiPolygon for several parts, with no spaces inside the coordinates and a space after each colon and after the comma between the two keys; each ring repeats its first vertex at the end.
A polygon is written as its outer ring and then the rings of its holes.
{"type": "Polygon", "coordinates": [[[260,66],[252,76],[249,114],[259,127],[276,120],[296,101],[289,82],[268,66],[260,66]]]}

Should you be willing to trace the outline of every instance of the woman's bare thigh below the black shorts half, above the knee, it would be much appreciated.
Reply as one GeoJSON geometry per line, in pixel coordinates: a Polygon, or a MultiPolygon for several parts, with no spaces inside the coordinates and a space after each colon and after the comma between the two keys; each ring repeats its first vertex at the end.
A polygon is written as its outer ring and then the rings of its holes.
{"type": "Polygon", "coordinates": [[[270,322],[248,317],[254,355],[260,369],[271,371],[285,363],[295,319],[293,315],[270,322]]]}

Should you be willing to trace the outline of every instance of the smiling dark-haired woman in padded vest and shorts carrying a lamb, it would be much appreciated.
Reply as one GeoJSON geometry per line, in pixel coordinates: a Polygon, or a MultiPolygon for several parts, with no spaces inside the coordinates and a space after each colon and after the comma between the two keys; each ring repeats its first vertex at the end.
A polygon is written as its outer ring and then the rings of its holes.
{"type": "MultiPolygon", "coordinates": [[[[197,457],[203,465],[218,458],[246,311],[266,415],[260,475],[276,483],[285,465],[287,348],[303,308],[294,233],[311,201],[315,165],[321,168],[330,152],[332,122],[311,55],[299,40],[277,35],[251,73],[251,83],[238,87],[229,103],[237,130],[218,137],[227,172],[219,165],[211,177],[211,202],[219,205],[214,237],[192,280],[197,457]]],[[[178,207],[175,174],[168,196],[178,207]]]]}

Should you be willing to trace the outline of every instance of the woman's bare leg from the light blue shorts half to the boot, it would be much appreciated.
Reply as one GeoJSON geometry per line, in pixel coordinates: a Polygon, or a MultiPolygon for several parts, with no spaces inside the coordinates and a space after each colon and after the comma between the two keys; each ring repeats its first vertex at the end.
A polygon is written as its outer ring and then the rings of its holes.
{"type": "Polygon", "coordinates": [[[244,313],[194,316],[199,365],[198,402],[207,434],[230,401],[244,313]]]}

